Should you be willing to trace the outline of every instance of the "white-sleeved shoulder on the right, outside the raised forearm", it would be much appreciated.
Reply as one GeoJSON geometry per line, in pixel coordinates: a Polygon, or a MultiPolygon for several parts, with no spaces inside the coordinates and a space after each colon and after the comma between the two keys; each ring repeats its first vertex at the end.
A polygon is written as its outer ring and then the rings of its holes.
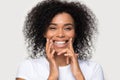
{"type": "Polygon", "coordinates": [[[104,80],[103,70],[100,64],[90,60],[79,60],[79,65],[87,80],[104,80]]]}

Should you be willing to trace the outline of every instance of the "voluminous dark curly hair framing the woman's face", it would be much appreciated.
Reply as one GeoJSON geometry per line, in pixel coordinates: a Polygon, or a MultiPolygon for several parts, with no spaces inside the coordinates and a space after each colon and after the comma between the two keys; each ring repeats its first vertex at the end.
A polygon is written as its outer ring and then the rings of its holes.
{"type": "Polygon", "coordinates": [[[45,54],[46,29],[53,17],[62,12],[70,14],[74,19],[76,38],[73,48],[79,54],[79,59],[84,60],[91,56],[93,35],[97,32],[96,18],[92,11],[80,2],[44,0],[28,13],[23,29],[32,58],[45,54]]]}

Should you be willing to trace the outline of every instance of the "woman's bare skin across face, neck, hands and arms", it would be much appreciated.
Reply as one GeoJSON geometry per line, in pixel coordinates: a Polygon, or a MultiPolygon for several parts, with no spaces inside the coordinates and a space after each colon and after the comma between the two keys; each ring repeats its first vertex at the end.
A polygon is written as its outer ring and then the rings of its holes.
{"type": "MultiPolygon", "coordinates": [[[[74,20],[68,13],[59,13],[51,21],[44,34],[46,42],[46,56],[50,66],[48,80],[58,80],[59,66],[70,64],[76,80],[85,80],[78,64],[77,54],[73,50],[75,38],[74,20]],[[56,45],[55,42],[65,41],[65,44],[56,45]]],[[[16,79],[24,80],[24,79],[16,79]]]]}

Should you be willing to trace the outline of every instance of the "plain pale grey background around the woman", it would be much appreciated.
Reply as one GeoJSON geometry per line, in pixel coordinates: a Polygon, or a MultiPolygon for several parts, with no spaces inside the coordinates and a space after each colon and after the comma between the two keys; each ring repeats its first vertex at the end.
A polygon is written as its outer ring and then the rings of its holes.
{"type": "MultiPolygon", "coordinates": [[[[0,0],[0,80],[15,80],[18,64],[27,57],[23,23],[40,0],[0,0]]],[[[120,80],[119,0],[80,0],[96,14],[99,35],[92,60],[101,64],[106,80],[120,80]]]]}

